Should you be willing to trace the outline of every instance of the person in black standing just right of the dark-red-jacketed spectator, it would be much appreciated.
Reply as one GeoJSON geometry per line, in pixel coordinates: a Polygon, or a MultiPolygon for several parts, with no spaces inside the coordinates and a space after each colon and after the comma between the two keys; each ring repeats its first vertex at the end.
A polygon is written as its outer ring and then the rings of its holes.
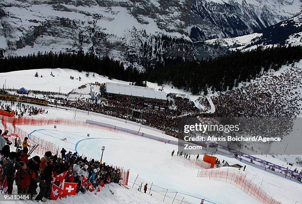
{"type": "Polygon", "coordinates": [[[40,174],[40,157],[39,156],[34,156],[32,159],[28,160],[27,162],[27,167],[35,173],[33,178],[31,178],[31,183],[28,188],[28,193],[31,194],[31,198],[33,198],[34,195],[37,194],[37,188],[38,188],[38,180],[39,179],[39,174],[40,174]]]}

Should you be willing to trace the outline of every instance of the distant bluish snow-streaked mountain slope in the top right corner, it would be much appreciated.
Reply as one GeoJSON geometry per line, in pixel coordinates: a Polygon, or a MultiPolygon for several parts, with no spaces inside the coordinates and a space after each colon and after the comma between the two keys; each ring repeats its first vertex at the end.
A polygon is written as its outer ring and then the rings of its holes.
{"type": "Polygon", "coordinates": [[[292,17],[300,0],[192,0],[192,41],[251,34],[292,17]]]}

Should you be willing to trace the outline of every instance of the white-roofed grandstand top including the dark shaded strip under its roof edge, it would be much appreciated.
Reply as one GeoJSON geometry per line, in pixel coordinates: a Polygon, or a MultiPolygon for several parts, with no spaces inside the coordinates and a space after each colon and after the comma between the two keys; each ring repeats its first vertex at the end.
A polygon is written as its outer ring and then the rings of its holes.
{"type": "Polygon", "coordinates": [[[150,102],[167,102],[165,92],[155,91],[153,88],[117,84],[106,82],[106,92],[108,96],[127,97],[132,99],[144,99],[150,102]]]}

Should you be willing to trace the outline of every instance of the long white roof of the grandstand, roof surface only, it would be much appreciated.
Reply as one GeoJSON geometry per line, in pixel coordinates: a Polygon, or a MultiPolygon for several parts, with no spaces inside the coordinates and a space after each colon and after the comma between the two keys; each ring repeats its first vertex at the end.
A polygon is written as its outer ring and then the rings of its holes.
{"type": "Polygon", "coordinates": [[[167,95],[165,92],[155,91],[153,88],[148,87],[106,82],[106,91],[107,93],[111,94],[121,94],[128,96],[167,100],[167,95]]]}

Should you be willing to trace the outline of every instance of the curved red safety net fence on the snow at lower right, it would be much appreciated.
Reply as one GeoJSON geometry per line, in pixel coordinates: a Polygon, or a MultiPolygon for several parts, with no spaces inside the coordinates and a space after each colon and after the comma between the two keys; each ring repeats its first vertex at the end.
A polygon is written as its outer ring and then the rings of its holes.
{"type": "Polygon", "coordinates": [[[243,171],[229,169],[198,170],[197,177],[205,177],[230,183],[263,204],[282,204],[265,193],[260,186],[253,183],[252,178],[248,179],[246,173],[243,171]]]}

